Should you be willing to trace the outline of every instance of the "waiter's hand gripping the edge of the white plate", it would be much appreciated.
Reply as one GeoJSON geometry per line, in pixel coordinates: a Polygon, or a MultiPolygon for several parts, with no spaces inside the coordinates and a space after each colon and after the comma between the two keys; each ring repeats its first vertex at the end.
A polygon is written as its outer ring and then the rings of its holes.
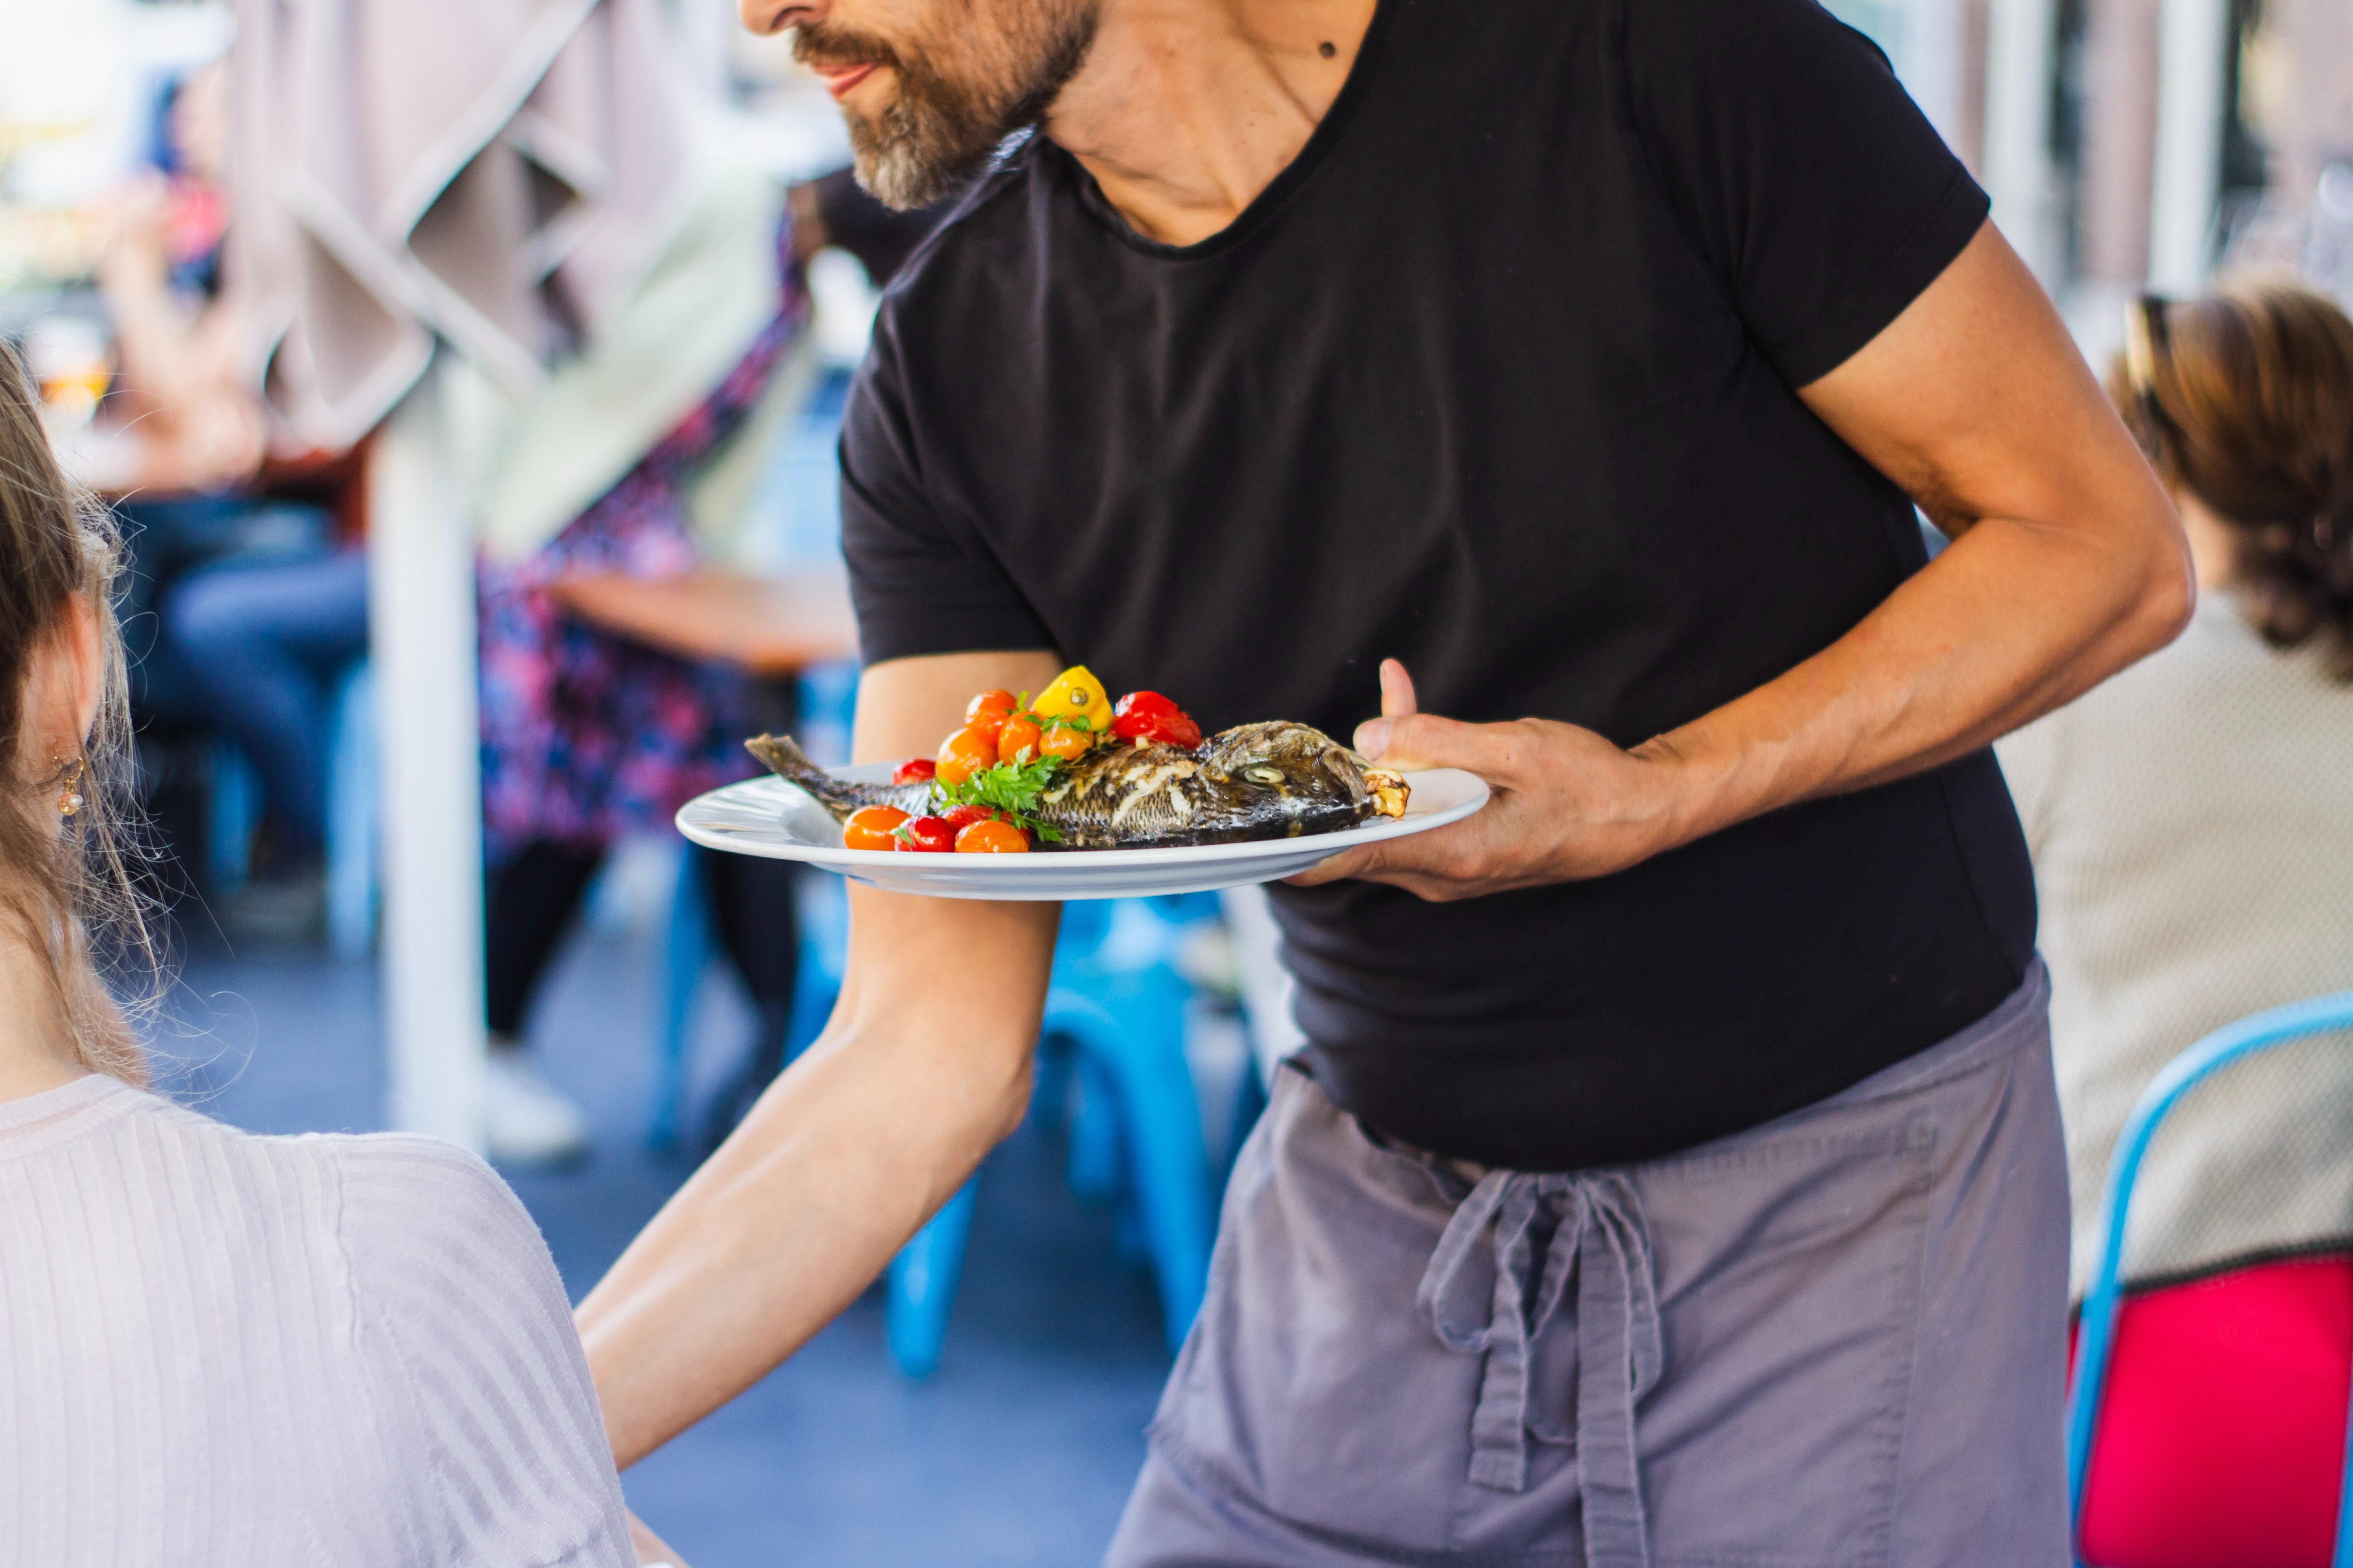
{"type": "Polygon", "coordinates": [[[1675,842],[1682,778],[1668,759],[1555,719],[1461,724],[1419,712],[1395,658],[1381,661],[1381,717],[1358,726],[1355,750],[1391,769],[1478,773],[1494,797],[1452,827],[1332,856],[1294,886],[1362,877],[1445,903],[1602,877],[1675,842]]]}

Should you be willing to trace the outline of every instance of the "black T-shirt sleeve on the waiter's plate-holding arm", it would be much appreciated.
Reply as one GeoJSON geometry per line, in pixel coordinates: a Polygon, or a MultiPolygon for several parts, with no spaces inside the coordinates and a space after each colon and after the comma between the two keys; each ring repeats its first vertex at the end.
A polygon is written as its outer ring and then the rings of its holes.
{"type": "Polygon", "coordinates": [[[1635,129],[1791,386],[1838,369],[1986,221],[1887,56],[1814,0],[1621,0],[1635,129]]]}

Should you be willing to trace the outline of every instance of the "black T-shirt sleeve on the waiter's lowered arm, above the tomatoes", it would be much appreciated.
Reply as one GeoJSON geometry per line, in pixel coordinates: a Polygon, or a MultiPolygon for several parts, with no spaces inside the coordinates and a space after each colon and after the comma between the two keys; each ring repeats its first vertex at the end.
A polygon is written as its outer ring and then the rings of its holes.
{"type": "Polygon", "coordinates": [[[1052,649],[1038,611],[969,527],[941,515],[885,301],[842,416],[842,557],[866,663],[918,654],[1052,649]]]}

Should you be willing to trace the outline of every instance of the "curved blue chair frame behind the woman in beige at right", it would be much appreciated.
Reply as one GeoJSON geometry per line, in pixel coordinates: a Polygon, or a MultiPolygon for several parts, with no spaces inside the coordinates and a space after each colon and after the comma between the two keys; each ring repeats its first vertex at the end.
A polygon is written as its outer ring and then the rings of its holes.
{"type": "MultiPolygon", "coordinates": [[[[2092,1472],[2092,1439],[2099,1429],[2101,1380],[2108,1373],[2108,1354],[2115,1349],[2115,1314],[2122,1307],[2122,1260],[2125,1215],[2132,1208],[2132,1187],[2141,1175],[2141,1161],[2158,1133],[2158,1124],[2181,1103],[2181,1098],[2221,1072],[2224,1067],[2311,1034],[2353,1027],[2353,992],[2292,1001],[2266,1013],[2254,1013],[2200,1039],[2195,1046],[2165,1065],[2125,1121],[2125,1133],[2115,1143],[2108,1161],[2108,1190],[2101,1199],[2099,1262],[2082,1298],[2082,1324],[2075,1349],[2075,1382],[2068,1389],[2066,1410],[2066,1481],[2068,1516],[2082,1526],[2082,1490],[2092,1472]]],[[[2337,1549],[2334,1568],[2353,1568],[2353,1441],[2346,1443],[2344,1481],[2337,1500],[2337,1549]]]]}

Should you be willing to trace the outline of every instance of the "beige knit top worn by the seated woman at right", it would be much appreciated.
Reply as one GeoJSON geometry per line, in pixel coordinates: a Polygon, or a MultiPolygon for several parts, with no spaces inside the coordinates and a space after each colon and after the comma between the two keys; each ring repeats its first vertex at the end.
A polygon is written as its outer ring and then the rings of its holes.
{"type": "MultiPolygon", "coordinates": [[[[2042,898],[2080,1293],[2158,1070],[2235,1018],[2353,990],[2353,689],[2209,595],[2174,646],[1995,750],[2042,898]]],[[[2353,1234],[2346,1037],[2235,1067],[2167,1126],[2129,1279],[2353,1234]]]]}

